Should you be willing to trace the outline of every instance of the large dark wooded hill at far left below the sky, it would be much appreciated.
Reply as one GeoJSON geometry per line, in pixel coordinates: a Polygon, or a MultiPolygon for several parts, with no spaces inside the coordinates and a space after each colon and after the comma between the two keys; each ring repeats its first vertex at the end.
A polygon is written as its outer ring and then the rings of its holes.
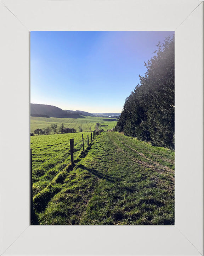
{"type": "Polygon", "coordinates": [[[34,103],[30,103],[30,115],[46,115],[48,117],[60,118],[84,118],[83,116],[80,116],[79,113],[71,113],[55,106],[34,103]]]}

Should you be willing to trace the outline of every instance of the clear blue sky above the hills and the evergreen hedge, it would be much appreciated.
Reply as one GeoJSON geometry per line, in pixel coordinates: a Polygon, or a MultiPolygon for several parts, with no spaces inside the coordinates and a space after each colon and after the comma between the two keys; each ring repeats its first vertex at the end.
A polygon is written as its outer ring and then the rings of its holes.
{"type": "Polygon", "coordinates": [[[144,61],[173,31],[31,31],[30,102],[120,113],[144,61]]]}

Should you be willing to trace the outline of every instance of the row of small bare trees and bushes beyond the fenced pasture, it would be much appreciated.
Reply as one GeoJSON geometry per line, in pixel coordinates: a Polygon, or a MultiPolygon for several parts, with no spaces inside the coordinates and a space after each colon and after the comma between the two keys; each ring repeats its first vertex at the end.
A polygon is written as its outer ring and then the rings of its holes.
{"type": "MultiPolygon", "coordinates": [[[[80,129],[82,130],[82,129],[80,129]]],[[[34,133],[30,133],[31,136],[33,136],[34,134],[36,135],[43,135],[43,134],[50,134],[51,132],[55,133],[74,133],[77,132],[76,129],[74,128],[65,128],[64,124],[62,123],[60,127],[58,127],[57,124],[52,124],[50,127],[46,127],[45,129],[40,129],[37,128],[34,130],[34,133]]]]}

